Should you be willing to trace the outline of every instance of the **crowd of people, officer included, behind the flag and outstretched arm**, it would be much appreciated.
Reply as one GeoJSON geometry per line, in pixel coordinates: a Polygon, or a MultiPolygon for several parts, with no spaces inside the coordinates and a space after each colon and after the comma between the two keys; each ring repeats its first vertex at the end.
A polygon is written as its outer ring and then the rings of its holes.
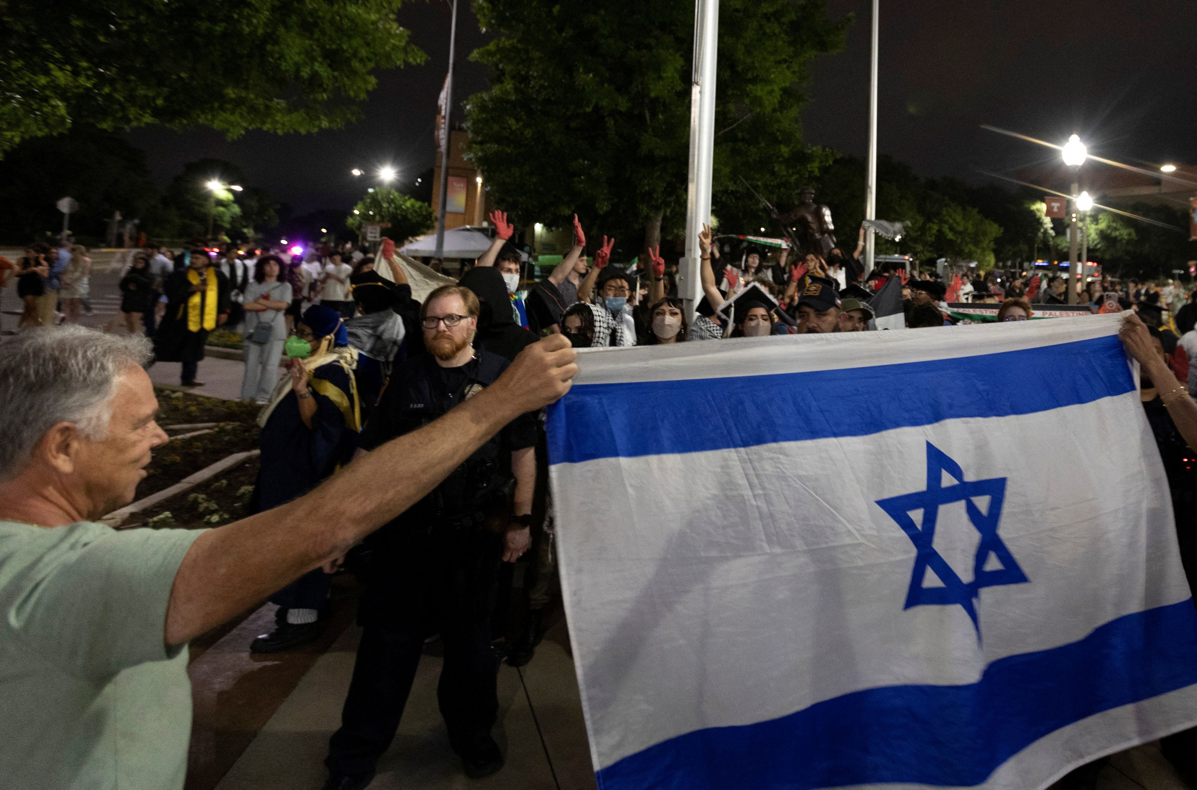
{"type": "MultiPolygon", "coordinates": [[[[150,245],[121,278],[121,328],[152,336],[158,359],[183,363],[187,385],[201,385],[196,366],[208,333],[241,329],[241,396],[263,406],[250,500],[259,514],[443,417],[498,381],[543,335],[561,334],[576,348],[672,345],[936,328],[980,315],[954,309],[977,303],[996,304],[996,321],[1027,321],[1068,303],[1059,276],[944,278],[891,268],[865,278],[863,232],[851,253],[833,248],[825,257],[796,255],[785,244],[745,247],[704,227],[701,300],[691,322],[676,267],[660,248],[619,266],[612,261],[615,239],[604,236],[590,261],[575,218],[572,249],[536,281],[525,276],[506,215],[494,212],[491,220],[491,248],[457,284],[432,290],[423,302],[389,239],[376,255],[352,245],[247,255],[192,244],[170,256],[150,245]],[[883,308],[886,294],[893,298],[883,308]]],[[[54,323],[60,300],[68,320],[77,320],[87,297],[86,250],[32,245],[13,269],[25,302],[23,326],[54,323]]],[[[1197,440],[1197,408],[1190,408],[1183,384],[1197,376],[1197,359],[1190,364],[1197,354],[1197,293],[1172,281],[1157,287],[1093,279],[1075,302],[1089,312],[1138,316],[1128,320],[1124,341],[1143,363],[1143,407],[1172,485],[1186,571],[1197,578],[1197,461],[1189,449],[1197,440]]],[[[320,638],[329,619],[330,575],[342,566],[364,584],[364,631],[342,724],[329,743],[327,789],[370,783],[431,638],[443,646],[440,712],[464,772],[479,778],[503,767],[491,736],[497,662],[519,667],[531,660],[557,587],[543,419],[543,412],[529,413],[508,424],[397,518],[272,596],[279,607],[274,627],[251,642],[253,652],[320,638]],[[523,592],[512,595],[514,564],[522,558],[523,592]]],[[[1165,741],[1181,771],[1195,771],[1185,756],[1191,741],[1191,734],[1165,741]]]]}

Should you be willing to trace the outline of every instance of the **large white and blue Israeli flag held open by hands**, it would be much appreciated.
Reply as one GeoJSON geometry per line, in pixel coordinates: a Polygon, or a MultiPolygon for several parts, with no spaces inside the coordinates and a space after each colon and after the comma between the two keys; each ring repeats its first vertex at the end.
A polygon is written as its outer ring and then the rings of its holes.
{"type": "Polygon", "coordinates": [[[1119,326],[583,352],[548,429],[598,786],[1027,790],[1197,723],[1119,326]]]}

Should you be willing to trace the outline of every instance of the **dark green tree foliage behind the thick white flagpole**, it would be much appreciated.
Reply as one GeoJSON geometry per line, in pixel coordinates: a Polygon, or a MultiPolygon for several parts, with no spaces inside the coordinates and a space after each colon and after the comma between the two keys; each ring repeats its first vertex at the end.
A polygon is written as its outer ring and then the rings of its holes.
{"type": "MultiPolygon", "coordinates": [[[[519,221],[603,232],[685,224],[693,5],[667,0],[476,0],[498,37],[467,105],[470,156],[519,221]]],[[[810,61],[839,49],[850,19],[824,0],[723,0],[713,211],[725,227],[761,213],[739,177],[778,202],[830,154],[802,142],[810,61]]]]}

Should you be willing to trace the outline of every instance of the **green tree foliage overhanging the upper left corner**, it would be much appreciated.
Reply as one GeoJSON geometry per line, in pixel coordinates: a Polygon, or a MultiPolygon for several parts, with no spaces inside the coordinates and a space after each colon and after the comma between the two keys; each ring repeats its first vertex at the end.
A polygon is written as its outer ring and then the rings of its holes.
{"type": "Polygon", "coordinates": [[[0,2],[0,156],[74,122],[315,132],[424,53],[402,0],[0,2]]]}

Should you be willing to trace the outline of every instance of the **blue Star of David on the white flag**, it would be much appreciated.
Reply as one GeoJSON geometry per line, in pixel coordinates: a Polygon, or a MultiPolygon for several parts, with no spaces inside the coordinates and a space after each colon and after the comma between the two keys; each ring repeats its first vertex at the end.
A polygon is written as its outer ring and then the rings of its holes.
{"type": "Polygon", "coordinates": [[[980,622],[977,619],[974,603],[974,600],[979,598],[980,589],[1031,581],[1014,560],[1010,549],[997,536],[997,523],[1002,518],[1002,498],[1005,496],[1005,478],[965,480],[960,464],[928,442],[926,490],[876,500],[877,505],[898,522],[898,525],[903,528],[918,551],[904,609],[926,604],[959,604],[968,613],[973,627],[977,628],[977,637],[980,638],[980,622]],[[955,485],[943,486],[943,473],[955,480],[955,485]],[[982,512],[977,505],[977,499],[984,497],[989,497],[986,512],[982,512]],[[967,583],[952,570],[952,566],[932,546],[940,505],[954,502],[965,503],[968,521],[980,533],[980,546],[977,547],[977,557],[973,560],[973,581],[967,583]],[[916,510],[923,511],[922,529],[911,518],[911,512],[916,510]],[[991,555],[997,558],[1001,564],[999,569],[985,570],[991,555]],[[926,569],[931,569],[943,587],[923,587],[926,569]]]}

